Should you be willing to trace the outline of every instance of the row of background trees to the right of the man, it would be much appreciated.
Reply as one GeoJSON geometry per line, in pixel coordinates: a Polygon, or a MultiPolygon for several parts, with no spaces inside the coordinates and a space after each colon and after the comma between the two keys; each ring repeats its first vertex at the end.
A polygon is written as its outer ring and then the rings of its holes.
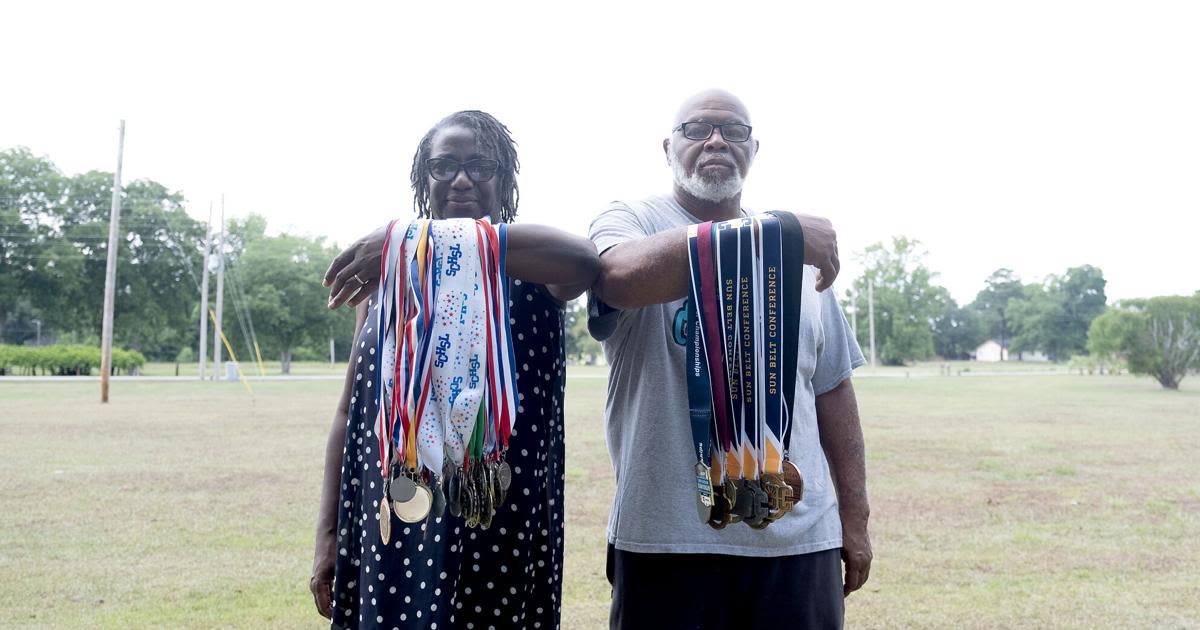
{"type": "Polygon", "coordinates": [[[968,359],[994,340],[1009,359],[1025,353],[1051,361],[1088,355],[1112,368],[1153,376],[1168,389],[1200,370],[1200,292],[1109,306],[1099,268],[1073,266],[1039,282],[997,269],[974,300],[959,305],[936,283],[926,254],[920,241],[906,236],[876,242],[860,253],[865,270],[846,292],[847,317],[857,319],[864,350],[874,293],[876,352],[886,365],[968,359]]]}

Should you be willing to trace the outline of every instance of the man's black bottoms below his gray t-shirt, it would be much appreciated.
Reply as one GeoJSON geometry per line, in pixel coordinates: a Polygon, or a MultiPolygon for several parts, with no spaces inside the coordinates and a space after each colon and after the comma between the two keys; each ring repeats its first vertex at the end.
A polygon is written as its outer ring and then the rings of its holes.
{"type": "Polygon", "coordinates": [[[613,630],[840,629],[841,550],[746,558],[608,545],[613,630]]]}

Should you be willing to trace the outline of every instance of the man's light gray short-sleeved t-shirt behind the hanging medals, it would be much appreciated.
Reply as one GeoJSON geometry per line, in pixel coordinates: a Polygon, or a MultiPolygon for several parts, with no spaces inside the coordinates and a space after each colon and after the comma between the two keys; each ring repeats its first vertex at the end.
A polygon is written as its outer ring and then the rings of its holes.
{"type": "MultiPolygon", "coordinates": [[[[614,202],[588,230],[601,253],[614,245],[700,223],[673,197],[614,202]]],[[[716,530],[696,516],[696,456],[691,450],[683,341],[674,337],[684,300],[623,311],[604,341],[608,360],[605,408],[617,492],[608,541],[644,553],[792,556],[841,546],[838,499],[817,433],[816,396],[863,365],[834,292],[817,293],[804,268],[798,378],[790,444],[804,475],[804,500],[761,530],[733,524],[716,530]]]]}

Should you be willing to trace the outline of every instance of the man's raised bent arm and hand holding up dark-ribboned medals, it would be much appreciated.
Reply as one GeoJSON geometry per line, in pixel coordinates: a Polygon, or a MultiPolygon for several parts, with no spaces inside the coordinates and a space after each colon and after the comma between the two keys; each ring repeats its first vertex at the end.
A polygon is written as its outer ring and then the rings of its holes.
{"type": "MultiPolygon", "coordinates": [[[[804,228],[804,264],[815,265],[817,290],[838,277],[838,234],[827,218],[797,215],[804,228]]],[[[688,294],[688,228],[674,228],[614,245],[600,256],[594,287],[605,304],[622,311],[678,300],[688,294]]]]}

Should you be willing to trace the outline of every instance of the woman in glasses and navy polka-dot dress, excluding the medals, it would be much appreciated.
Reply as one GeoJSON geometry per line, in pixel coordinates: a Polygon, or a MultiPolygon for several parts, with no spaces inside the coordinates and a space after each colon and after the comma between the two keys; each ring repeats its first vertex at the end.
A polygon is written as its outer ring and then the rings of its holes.
{"type": "MultiPolygon", "coordinates": [[[[520,164],[508,128],[482,112],[438,122],[413,158],[421,217],[510,222],[520,164]]],[[[512,485],[488,529],[449,512],[379,536],[383,497],[374,443],[371,365],[383,229],[335,259],[330,307],[358,305],[354,353],[325,448],[311,588],[334,628],[557,628],[563,569],[562,308],[599,270],[587,239],[544,226],[511,226],[506,266],[517,364],[517,421],[509,443],[512,485]],[[373,322],[373,318],[371,318],[373,322]],[[366,325],[364,325],[364,323],[366,325]],[[360,358],[362,359],[360,361],[360,358]]]]}

